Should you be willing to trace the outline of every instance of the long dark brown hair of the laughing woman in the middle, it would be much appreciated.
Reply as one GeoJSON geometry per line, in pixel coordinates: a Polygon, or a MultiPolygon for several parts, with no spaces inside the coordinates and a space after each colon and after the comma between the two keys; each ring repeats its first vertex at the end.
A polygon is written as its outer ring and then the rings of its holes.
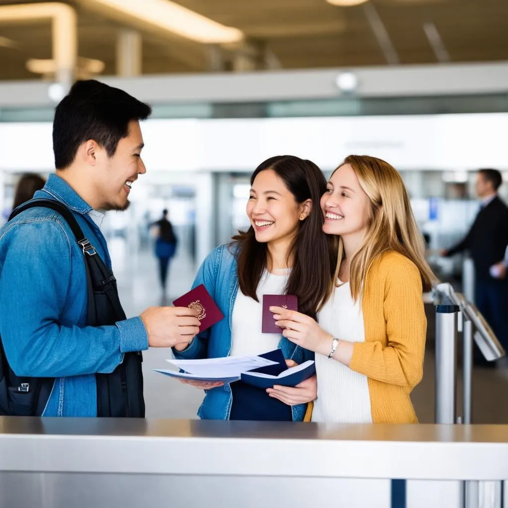
{"type": "MultiPolygon", "coordinates": [[[[315,319],[331,292],[337,262],[332,235],[323,233],[324,217],[321,196],[326,192],[326,179],[312,162],[294,155],[277,155],[261,163],[250,177],[250,184],[265,170],[272,170],[282,179],[297,203],[312,200],[310,215],[299,222],[298,233],[290,247],[294,264],[284,294],[298,297],[298,310],[315,319]]],[[[252,226],[233,237],[238,243],[237,271],[241,292],[258,300],[258,284],[268,263],[266,243],[256,240],[252,226]]]]}

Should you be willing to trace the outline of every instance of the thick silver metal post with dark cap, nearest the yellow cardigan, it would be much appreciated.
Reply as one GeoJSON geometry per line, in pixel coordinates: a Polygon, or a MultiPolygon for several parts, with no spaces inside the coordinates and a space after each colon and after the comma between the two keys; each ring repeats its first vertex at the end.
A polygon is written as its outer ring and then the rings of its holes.
{"type": "Polygon", "coordinates": [[[436,306],[436,423],[455,424],[458,305],[436,306]]]}

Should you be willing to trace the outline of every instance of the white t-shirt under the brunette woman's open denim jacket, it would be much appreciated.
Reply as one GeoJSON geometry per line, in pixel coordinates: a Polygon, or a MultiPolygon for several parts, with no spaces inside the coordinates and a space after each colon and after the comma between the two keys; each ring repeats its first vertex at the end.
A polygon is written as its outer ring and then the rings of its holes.
{"type": "Polygon", "coordinates": [[[260,355],[277,349],[281,333],[261,333],[263,295],[281,295],[290,269],[265,271],[258,284],[256,302],[240,290],[233,307],[230,356],[260,355]]]}

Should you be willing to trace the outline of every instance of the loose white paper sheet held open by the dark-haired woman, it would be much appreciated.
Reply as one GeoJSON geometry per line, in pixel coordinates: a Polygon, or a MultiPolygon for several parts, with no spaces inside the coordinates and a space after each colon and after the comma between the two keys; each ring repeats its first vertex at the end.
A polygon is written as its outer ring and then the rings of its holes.
{"type": "Polygon", "coordinates": [[[162,369],[154,370],[180,379],[223,381],[224,383],[232,383],[240,379],[242,372],[277,364],[277,362],[259,356],[229,356],[226,358],[209,358],[204,360],[166,361],[185,372],[162,369]]]}

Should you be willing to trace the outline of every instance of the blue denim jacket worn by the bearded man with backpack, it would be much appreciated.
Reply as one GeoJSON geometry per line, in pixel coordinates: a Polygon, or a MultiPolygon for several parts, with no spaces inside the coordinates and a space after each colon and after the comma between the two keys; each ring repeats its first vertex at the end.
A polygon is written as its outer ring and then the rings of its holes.
{"type": "MultiPolygon", "coordinates": [[[[35,198],[66,204],[111,268],[93,209],[52,174],[35,198]]],[[[0,335],[18,376],[55,377],[44,416],[97,416],[95,373],[108,373],[123,353],[148,348],[140,317],[87,327],[83,252],[67,222],[49,208],[30,208],[0,230],[0,335]]]]}

